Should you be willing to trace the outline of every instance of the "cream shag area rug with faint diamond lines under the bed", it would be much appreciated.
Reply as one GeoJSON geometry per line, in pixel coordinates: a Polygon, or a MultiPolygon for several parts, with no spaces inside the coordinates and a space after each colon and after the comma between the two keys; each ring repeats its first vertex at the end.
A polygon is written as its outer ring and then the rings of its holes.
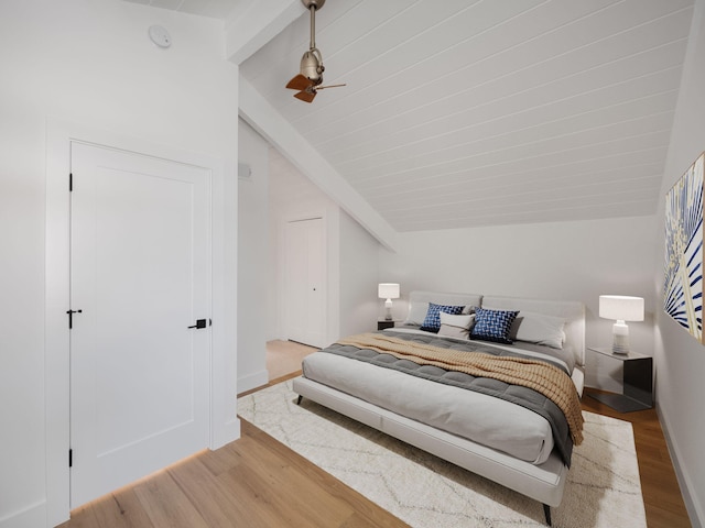
{"type": "MultiPolygon", "coordinates": [[[[303,399],[288,381],[238,414],[412,527],[545,526],[543,507],[487,479],[303,399]]],[[[631,424],[584,411],[556,528],[646,527],[631,424]]]]}

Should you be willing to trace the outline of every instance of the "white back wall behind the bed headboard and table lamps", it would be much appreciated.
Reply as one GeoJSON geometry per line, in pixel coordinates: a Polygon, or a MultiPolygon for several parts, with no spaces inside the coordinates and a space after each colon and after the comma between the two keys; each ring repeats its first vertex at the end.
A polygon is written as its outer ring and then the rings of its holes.
{"type": "MultiPolygon", "coordinates": [[[[654,229],[654,217],[637,217],[400,233],[397,253],[380,250],[380,276],[401,285],[394,318],[405,317],[413,289],[579,300],[588,346],[611,343],[600,294],[643,297],[646,321],[629,324],[631,344],[652,355],[654,229]]],[[[587,355],[586,383],[620,389],[619,364],[607,360],[587,355]]]]}

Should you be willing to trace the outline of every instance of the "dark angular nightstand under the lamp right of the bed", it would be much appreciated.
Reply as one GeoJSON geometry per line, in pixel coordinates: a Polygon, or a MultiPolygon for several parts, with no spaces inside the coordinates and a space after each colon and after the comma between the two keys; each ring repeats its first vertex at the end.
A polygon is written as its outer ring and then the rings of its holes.
{"type": "Polygon", "coordinates": [[[623,363],[622,394],[588,393],[590,398],[597,399],[620,413],[631,413],[653,407],[653,358],[637,352],[615,354],[609,346],[588,346],[587,350],[623,363]]]}

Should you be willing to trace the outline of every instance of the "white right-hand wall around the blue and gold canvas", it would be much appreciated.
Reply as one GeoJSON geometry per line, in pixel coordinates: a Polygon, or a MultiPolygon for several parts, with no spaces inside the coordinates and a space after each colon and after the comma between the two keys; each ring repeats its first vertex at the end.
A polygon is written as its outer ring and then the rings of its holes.
{"type": "MultiPolygon", "coordinates": [[[[687,167],[705,151],[705,1],[696,0],[691,40],[683,68],[671,146],[661,195],[665,196],[687,167]]],[[[659,207],[653,235],[659,241],[654,260],[657,297],[663,298],[664,201],[659,207]]],[[[657,309],[657,408],[680,470],[691,522],[705,526],[705,346],[657,309]]]]}

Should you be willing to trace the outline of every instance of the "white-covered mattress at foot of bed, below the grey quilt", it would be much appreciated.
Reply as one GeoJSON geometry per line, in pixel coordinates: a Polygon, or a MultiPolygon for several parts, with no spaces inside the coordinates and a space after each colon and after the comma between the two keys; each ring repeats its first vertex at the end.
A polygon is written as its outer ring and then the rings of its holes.
{"type": "Polygon", "coordinates": [[[325,352],[306,356],[303,374],[370,404],[533,464],[545,462],[553,450],[549,422],[503,399],[325,352]]]}

